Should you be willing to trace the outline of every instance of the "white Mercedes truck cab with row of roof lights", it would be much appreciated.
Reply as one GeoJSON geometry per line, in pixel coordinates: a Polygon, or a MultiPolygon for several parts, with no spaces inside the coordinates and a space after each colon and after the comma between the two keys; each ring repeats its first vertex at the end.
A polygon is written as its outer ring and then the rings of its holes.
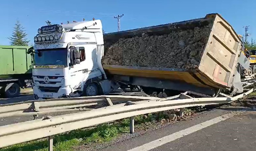
{"type": "Polygon", "coordinates": [[[104,45],[100,20],[43,26],[34,43],[31,67],[36,100],[111,91],[101,65],[104,45]]]}

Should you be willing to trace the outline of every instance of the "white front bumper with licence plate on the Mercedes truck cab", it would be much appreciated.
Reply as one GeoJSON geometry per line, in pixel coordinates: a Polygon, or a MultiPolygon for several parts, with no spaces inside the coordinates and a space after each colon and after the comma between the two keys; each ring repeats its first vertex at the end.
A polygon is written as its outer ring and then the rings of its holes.
{"type": "Polygon", "coordinates": [[[38,89],[37,86],[34,86],[33,93],[34,93],[35,100],[63,98],[63,97],[69,97],[70,93],[72,93],[72,89],[69,86],[67,86],[67,87],[60,88],[57,93],[54,93],[54,92],[42,92],[40,91],[40,89],[38,89]]]}

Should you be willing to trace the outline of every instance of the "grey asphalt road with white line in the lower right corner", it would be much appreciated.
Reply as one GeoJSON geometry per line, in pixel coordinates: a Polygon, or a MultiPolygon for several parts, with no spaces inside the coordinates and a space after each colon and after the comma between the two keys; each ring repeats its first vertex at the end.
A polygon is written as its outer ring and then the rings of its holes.
{"type": "Polygon", "coordinates": [[[193,117],[193,120],[169,125],[103,151],[256,150],[256,111],[239,113],[235,110],[237,108],[215,109],[193,117]],[[229,118],[224,118],[226,115],[229,118]]]}

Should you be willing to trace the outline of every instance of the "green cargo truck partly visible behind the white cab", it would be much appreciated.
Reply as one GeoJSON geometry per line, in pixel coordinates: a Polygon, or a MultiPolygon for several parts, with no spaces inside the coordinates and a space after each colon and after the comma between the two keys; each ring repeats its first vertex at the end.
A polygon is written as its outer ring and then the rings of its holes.
{"type": "Polygon", "coordinates": [[[32,79],[31,56],[27,54],[31,46],[0,45],[0,95],[11,98],[20,94],[32,79]]]}

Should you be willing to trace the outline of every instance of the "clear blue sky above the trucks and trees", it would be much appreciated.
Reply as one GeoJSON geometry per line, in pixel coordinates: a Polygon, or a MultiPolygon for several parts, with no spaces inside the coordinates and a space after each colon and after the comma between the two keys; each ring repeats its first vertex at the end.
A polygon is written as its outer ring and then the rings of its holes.
{"type": "Polygon", "coordinates": [[[256,39],[256,0],[1,0],[0,45],[9,45],[14,23],[19,19],[33,41],[37,29],[52,23],[101,19],[107,32],[117,31],[117,19],[121,18],[121,30],[204,17],[208,13],[220,13],[238,34],[244,35],[243,26],[250,25],[249,41],[256,39]]]}

